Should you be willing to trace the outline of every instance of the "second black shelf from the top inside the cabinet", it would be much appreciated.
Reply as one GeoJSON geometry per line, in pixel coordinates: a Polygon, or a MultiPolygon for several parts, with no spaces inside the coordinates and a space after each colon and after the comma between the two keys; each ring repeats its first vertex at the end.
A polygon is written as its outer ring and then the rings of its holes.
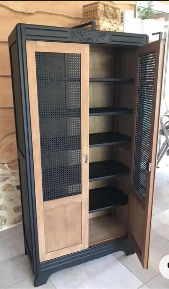
{"type": "Polygon", "coordinates": [[[96,115],[119,115],[132,113],[132,109],[124,107],[91,107],[89,116],[96,115]]]}

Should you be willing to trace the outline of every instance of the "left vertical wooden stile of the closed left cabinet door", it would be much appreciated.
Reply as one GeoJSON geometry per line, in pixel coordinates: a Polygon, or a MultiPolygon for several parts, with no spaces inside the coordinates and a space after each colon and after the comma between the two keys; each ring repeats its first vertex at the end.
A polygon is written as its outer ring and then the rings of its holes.
{"type": "Polygon", "coordinates": [[[38,117],[38,93],[36,83],[35,41],[26,41],[26,54],[28,68],[29,106],[32,129],[32,150],[34,162],[39,258],[40,262],[42,262],[45,261],[45,234],[41,173],[41,144],[38,117]]]}

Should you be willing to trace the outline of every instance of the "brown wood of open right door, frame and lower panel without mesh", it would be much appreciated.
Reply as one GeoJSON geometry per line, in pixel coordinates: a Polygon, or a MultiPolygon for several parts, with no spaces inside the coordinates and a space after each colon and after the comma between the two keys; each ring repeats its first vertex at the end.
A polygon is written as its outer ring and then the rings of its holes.
{"type": "MultiPolygon", "coordinates": [[[[151,162],[151,171],[147,173],[146,182],[146,200],[143,202],[137,191],[134,189],[133,183],[133,168],[134,168],[134,145],[135,145],[135,132],[133,131],[132,144],[131,144],[131,172],[130,172],[130,196],[129,196],[129,219],[128,231],[134,240],[134,245],[139,248],[140,258],[143,268],[148,267],[149,257],[149,241],[151,231],[151,218],[152,218],[152,203],[154,194],[154,180],[157,159],[157,144],[158,144],[158,129],[159,129],[159,113],[161,102],[161,83],[163,73],[163,57],[164,57],[164,39],[156,42],[149,43],[137,49],[137,79],[135,82],[135,106],[137,107],[137,83],[139,71],[139,57],[155,52],[155,72],[154,72],[154,87],[153,87],[153,101],[152,101],[152,118],[150,129],[149,141],[149,161],[151,162]],[[138,213],[139,212],[139,213],[138,213]],[[139,217],[136,217],[138,215],[139,217]],[[134,217],[135,216],[135,217],[134,217]],[[141,229],[142,227],[142,229],[141,229]]],[[[137,109],[135,109],[134,118],[136,121],[137,109]]],[[[134,126],[135,126],[134,121],[134,126]]]]}

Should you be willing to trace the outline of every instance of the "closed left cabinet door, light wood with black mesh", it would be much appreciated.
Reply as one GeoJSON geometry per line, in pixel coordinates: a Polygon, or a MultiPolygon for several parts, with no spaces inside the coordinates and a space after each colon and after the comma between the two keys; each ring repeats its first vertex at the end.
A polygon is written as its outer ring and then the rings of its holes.
{"type": "Polygon", "coordinates": [[[40,262],[88,248],[89,45],[26,42],[40,262]]]}

